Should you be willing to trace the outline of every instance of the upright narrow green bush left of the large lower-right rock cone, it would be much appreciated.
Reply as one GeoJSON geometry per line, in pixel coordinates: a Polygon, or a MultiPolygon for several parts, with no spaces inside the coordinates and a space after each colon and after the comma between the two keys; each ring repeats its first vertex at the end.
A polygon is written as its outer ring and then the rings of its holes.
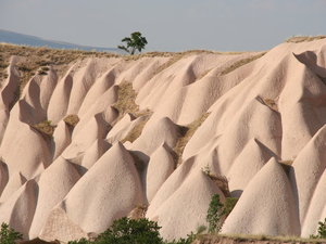
{"type": "Polygon", "coordinates": [[[210,207],[208,209],[206,221],[209,223],[209,232],[220,232],[222,228],[222,218],[224,215],[224,207],[220,201],[220,195],[212,196],[210,207]]]}

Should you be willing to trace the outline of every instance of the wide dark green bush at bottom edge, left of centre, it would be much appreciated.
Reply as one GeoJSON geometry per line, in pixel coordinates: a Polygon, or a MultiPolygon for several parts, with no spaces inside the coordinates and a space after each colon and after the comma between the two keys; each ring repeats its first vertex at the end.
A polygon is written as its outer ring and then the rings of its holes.
{"type": "Polygon", "coordinates": [[[160,227],[148,219],[122,218],[115,220],[110,229],[101,233],[97,244],[161,244],[160,227]]]}

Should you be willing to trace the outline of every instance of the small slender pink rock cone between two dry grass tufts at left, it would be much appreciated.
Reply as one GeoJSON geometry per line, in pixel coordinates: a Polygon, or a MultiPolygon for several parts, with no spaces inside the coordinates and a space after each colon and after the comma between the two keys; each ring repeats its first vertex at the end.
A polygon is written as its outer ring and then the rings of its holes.
{"type": "Polygon", "coordinates": [[[72,129],[65,121],[61,120],[53,132],[53,160],[61,155],[71,142],[72,129]]]}

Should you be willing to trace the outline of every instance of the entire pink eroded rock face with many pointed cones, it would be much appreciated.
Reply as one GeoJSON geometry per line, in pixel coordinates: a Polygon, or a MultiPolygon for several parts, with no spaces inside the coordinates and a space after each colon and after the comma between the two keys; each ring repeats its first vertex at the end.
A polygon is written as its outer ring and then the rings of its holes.
{"type": "Polygon", "coordinates": [[[225,200],[212,177],[225,176],[239,201],[222,232],[309,236],[326,217],[325,74],[325,40],[263,56],[88,59],[34,76],[15,102],[11,62],[0,222],[67,242],[147,209],[178,239],[205,224],[213,194],[225,200]]]}

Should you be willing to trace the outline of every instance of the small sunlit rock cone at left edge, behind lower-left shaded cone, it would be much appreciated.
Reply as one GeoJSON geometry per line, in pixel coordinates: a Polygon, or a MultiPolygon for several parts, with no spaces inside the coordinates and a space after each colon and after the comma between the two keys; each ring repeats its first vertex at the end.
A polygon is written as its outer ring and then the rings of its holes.
{"type": "MultiPolygon", "coordinates": [[[[8,171],[8,168],[2,165],[2,170],[8,171]]],[[[8,172],[7,172],[8,174],[8,172]]],[[[12,176],[10,176],[8,183],[5,184],[1,197],[0,197],[0,203],[5,202],[9,200],[14,192],[16,192],[24,183],[26,182],[26,178],[21,174],[21,172],[15,172],[12,176]]]]}

